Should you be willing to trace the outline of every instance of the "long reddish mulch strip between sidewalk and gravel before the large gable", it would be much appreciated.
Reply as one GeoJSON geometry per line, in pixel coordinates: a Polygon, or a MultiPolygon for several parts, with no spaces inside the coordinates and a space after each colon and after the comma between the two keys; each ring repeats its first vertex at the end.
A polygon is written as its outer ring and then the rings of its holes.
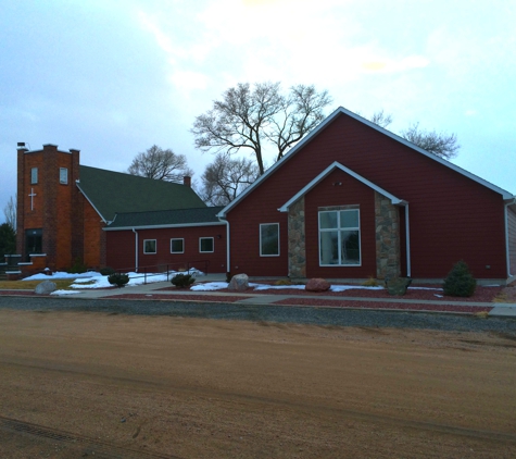
{"type": "Polygon", "coordinates": [[[281,306],[315,306],[329,308],[352,308],[352,309],[402,309],[412,311],[436,311],[436,312],[462,312],[475,314],[477,312],[489,312],[492,307],[461,306],[461,305],[417,305],[406,302],[382,302],[382,301],[353,301],[353,300],[331,300],[316,298],[287,298],[275,301],[274,305],[281,306]]]}

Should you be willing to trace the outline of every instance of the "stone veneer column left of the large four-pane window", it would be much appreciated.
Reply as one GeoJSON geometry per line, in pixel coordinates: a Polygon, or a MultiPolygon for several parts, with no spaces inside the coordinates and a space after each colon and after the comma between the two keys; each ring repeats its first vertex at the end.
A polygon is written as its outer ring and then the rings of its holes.
{"type": "Polygon", "coordinates": [[[289,276],[306,277],[304,197],[289,208],[289,276]]]}

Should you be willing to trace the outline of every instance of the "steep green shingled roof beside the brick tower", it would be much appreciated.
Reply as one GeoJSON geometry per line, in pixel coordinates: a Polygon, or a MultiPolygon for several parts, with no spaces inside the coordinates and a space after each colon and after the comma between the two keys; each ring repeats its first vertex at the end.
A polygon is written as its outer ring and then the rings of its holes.
{"type": "Polygon", "coordinates": [[[206,207],[193,189],[183,184],[87,165],[80,166],[79,177],[77,186],[108,222],[112,221],[117,212],[206,207]]]}

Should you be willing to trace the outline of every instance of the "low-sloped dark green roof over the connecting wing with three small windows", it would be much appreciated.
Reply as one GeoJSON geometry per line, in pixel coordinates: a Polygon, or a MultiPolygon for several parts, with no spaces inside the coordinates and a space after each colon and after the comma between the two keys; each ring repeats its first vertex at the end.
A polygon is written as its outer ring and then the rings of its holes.
{"type": "Polygon", "coordinates": [[[221,224],[217,213],[222,207],[204,207],[197,209],[161,210],[153,212],[117,213],[114,221],[105,227],[106,231],[165,227],[165,226],[194,226],[221,224]]]}

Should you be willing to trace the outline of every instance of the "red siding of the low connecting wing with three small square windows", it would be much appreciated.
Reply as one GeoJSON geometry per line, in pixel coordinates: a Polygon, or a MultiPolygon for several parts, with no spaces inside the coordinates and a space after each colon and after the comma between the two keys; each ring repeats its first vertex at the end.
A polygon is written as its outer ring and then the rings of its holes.
{"type": "MultiPolygon", "coordinates": [[[[209,272],[226,272],[226,226],[194,226],[184,228],[137,230],[138,232],[138,265],[140,271],[177,270],[190,263],[203,271],[204,261],[209,261],[209,272]],[[221,236],[221,238],[218,238],[221,236]],[[199,238],[213,237],[214,252],[201,253],[199,238]],[[184,253],[171,253],[171,239],[184,238],[184,253]],[[156,239],[156,253],[143,253],[143,240],[156,239]]],[[[106,264],[115,270],[130,271],[135,269],[135,234],[133,231],[108,231],[106,235],[106,264]]]]}

